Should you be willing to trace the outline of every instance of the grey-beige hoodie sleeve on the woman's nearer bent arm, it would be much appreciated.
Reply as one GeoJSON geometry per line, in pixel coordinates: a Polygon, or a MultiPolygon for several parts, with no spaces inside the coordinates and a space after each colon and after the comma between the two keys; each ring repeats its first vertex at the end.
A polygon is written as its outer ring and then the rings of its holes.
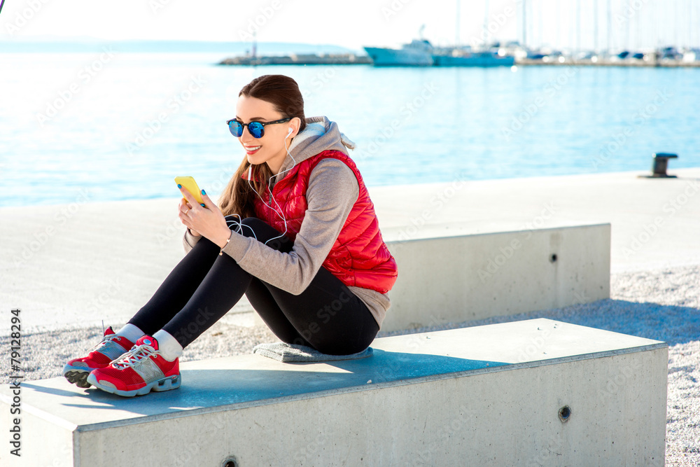
{"type": "Polygon", "coordinates": [[[309,176],[308,207],[292,251],[281,253],[234,232],[223,252],[258,279],[299,295],[323,265],[359,193],[350,167],[337,159],[322,160],[309,176]]]}

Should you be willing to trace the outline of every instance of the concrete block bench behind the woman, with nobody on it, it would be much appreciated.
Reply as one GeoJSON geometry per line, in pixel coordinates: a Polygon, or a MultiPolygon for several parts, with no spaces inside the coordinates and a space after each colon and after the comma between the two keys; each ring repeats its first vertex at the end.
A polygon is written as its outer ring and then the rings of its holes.
{"type": "MultiPolygon", "coordinates": [[[[399,276],[381,330],[610,298],[610,224],[387,242],[399,276]]],[[[262,320],[260,320],[262,322],[262,320]]]]}

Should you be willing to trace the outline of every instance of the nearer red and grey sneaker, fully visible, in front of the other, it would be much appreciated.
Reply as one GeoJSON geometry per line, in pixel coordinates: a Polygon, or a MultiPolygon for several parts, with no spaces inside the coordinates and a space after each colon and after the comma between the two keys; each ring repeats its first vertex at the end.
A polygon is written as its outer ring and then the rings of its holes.
{"type": "Polygon", "coordinates": [[[144,335],[134,347],[105,368],[93,370],[87,382],[119,396],[143,396],[153,391],[178,389],[181,383],[179,358],[166,360],[158,341],[144,335]]]}

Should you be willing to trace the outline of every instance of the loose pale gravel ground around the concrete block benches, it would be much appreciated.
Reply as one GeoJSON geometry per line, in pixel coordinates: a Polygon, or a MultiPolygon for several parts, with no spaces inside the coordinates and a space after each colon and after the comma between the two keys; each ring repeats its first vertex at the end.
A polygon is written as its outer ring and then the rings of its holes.
{"type": "MultiPolygon", "coordinates": [[[[668,342],[666,465],[700,466],[700,265],[612,274],[610,300],[513,316],[450,323],[404,333],[550,318],[668,342]]],[[[121,323],[111,323],[114,328],[121,323]]],[[[380,333],[379,337],[399,332],[380,333]]],[[[57,330],[22,336],[25,380],[61,375],[69,358],[82,356],[102,336],[102,329],[57,330]]],[[[219,321],[190,344],[181,361],[247,354],[276,337],[262,326],[234,326],[219,321]]],[[[3,349],[8,337],[0,337],[3,349]]],[[[3,384],[9,382],[9,358],[0,360],[3,384]]]]}

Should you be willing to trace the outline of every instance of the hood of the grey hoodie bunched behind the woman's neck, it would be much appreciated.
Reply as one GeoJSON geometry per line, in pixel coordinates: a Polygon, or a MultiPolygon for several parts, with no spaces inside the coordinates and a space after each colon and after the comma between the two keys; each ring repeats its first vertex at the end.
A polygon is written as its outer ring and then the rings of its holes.
{"type": "MultiPolygon", "coordinates": [[[[306,119],[306,123],[304,131],[297,134],[289,146],[289,153],[294,160],[288,154],[282,163],[280,174],[284,170],[290,169],[295,162],[298,164],[323,151],[341,151],[345,155],[349,155],[348,149],[355,148],[355,143],[340,132],[338,124],[328,120],[328,118],[309,117],[306,119]]],[[[275,183],[277,180],[275,177],[275,183]]]]}

